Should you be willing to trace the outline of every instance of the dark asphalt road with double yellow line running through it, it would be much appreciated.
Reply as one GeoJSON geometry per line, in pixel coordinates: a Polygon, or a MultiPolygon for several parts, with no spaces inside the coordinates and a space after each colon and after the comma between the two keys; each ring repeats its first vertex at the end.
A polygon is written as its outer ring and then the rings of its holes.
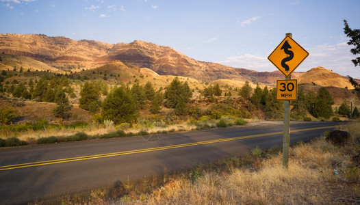
{"type": "MultiPolygon", "coordinates": [[[[339,124],[291,122],[290,143],[319,137],[339,124]]],[[[188,169],[239,156],[256,146],[282,146],[282,141],[283,123],[266,122],[151,139],[123,137],[1,148],[0,204],[24,204],[107,187],[118,180],[162,174],[165,167],[168,172],[188,169]]]]}

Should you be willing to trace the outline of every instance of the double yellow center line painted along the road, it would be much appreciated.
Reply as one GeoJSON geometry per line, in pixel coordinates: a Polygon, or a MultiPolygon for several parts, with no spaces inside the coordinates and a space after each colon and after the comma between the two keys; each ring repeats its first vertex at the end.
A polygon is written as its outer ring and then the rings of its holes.
{"type": "MultiPolygon", "coordinates": [[[[317,127],[317,128],[305,128],[305,129],[291,131],[291,133],[297,133],[297,132],[301,132],[301,131],[313,131],[313,130],[318,130],[318,129],[334,128],[334,127],[335,126],[323,126],[323,127],[317,127]]],[[[127,154],[137,154],[137,153],[142,153],[142,152],[154,152],[154,151],[159,151],[159,150],[170,150],[170,149],[175,149],[175,148],[185,148],[185,147],[198,146],[198,145],[204,145],[204,144],[209,144],[209,143],[219,143],[219,142],[224,142],[224,141],[234,141],[234,140],[239,140],[239,139],[264,137],[264,136],[269,136],[269,135],[280,135],[282,133],[283,132],[281,131],[281,132],[276,132],[276,133],[264,133],[264,134],[259,134],[259,135],[248,135],[248,136],[243,136],[243,137],[231,137],[231,138],[226,138],[226,139],[214,139],[214,140],[209,140],[209,141],[198,141],[198,142],[192,142],[192,143],[177,144],[177,145],[172,145],[172,146],[162,146],[162,147],[157,147],[157,148],[146,148],[146,149],[141,149],[141,150],[129,150],[129,151],[124,151],[124,152],[112,152],[112,153],[107,153],[107,154],[94,154],[94,155],[89,155],[89,156],[77,156],[77,157],[66,158],[66,159],[53,159],[53,160],[48,160],[48,161],[38,161],[38,162],[32,162],[32,163],[21,163],[21,164],[16,164],[16,165],[5,165],[5,166],[0,166],[0,171],[9,170],[9,169],[21,169],[21,168],[25,168],[25,167],[38,167],[38,166],[43,166],[43,165],[53,165],[53,164],[58,164],[58,163],[68,163],[68,162],[72,162],[72,161],[83,161],[83,160],[89,160],[89,159],[99,159],[99,158],[105,158],[105,157],[110,157],[110,156],[121,156],[121,155],[127,155],[127,154]]]]}

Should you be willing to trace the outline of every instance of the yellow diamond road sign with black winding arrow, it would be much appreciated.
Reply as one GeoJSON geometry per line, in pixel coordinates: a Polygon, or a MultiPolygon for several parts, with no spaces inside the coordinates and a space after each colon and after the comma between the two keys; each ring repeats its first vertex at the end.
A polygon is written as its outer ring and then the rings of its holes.
{"type": "Polygon", "coordinates": [[[308,55],[309,53],[303,47],[290,36],[286,36],[279,46],[272,51],[268,59],[288,77],[308,55]]]}

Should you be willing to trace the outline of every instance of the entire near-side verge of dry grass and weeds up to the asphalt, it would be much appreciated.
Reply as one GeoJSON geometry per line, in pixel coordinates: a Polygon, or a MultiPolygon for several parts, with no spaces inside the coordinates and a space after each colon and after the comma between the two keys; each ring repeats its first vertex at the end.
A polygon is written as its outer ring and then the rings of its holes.
{"type": "MultiPolygon", "coordinates": [[[[192,169],[114,182],[88,193],[57,199],[63,204],[357,204],[360,202],[360,122],[339,130],[342,144],[318,139],[290,148],[289,168],[282,148],[251,153],[192,169]]],[[[42,204],[36,202],[34,204],[42,204]]]]}

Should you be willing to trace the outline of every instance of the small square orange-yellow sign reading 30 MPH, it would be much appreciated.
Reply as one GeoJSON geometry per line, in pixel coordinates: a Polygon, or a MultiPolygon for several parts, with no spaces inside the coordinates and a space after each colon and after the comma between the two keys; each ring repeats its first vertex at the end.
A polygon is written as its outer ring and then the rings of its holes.
{"type": "Polygon", "coordinates": [[[277,100],[296,100],[298,81],[279,80],[277,81],[277,100]]]}

